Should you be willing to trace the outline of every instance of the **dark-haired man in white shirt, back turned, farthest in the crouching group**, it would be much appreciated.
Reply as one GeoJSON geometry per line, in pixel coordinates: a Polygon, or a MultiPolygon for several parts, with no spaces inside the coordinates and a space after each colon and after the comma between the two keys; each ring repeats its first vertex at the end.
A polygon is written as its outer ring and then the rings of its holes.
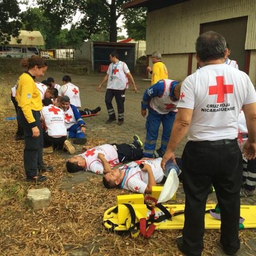
{"type": "Polygon", "coordinates": [[[59,89],[58,102],[60,102],[61,97],[68,96],[71,105],[77,107],[78,109],[81,108],[79,88],[71,83],[71,77],[63,76],[62,82],[63,85],[59,89]]]}

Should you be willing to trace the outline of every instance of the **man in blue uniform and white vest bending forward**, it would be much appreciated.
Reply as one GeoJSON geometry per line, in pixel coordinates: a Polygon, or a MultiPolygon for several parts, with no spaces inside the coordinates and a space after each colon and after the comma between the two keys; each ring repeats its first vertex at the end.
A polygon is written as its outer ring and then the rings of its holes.
{"type": "Polygon", "coordinates": [[[172,125],[177,113],[176,106],[180,98],[181,84],[170,79],[159,80],[144,93],[141,102],[141,115],[147,114],[146,140],[143,150],[145,157],[162,157],[170,139],[172,125]],[[159,126],[163,125],[161,148],[156,148],[159,126]]]}

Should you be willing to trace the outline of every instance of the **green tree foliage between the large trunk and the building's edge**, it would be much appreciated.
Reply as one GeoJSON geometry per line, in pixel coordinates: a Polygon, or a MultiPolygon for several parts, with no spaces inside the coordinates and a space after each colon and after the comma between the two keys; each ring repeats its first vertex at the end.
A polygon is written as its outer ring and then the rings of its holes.
{"type": "Polygon", "coordinates": [[[147,9],[127,9],[124,15],[124,28],[134,40],[146,40],[147,9]]]}

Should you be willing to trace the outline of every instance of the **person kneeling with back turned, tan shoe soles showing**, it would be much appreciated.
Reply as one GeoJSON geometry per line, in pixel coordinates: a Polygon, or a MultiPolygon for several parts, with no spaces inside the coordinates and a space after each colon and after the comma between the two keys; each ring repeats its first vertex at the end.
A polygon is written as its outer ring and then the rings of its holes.
{"type": "Polygon", "coordinates": [[[54,149],[66,149],[69,154],[75,153],[75,148],[67,140],[67,129],[62,109],[53,106],[50,99],[44,99],[41,119],[43,121],[44,153],[53,153],[54,149]]]}

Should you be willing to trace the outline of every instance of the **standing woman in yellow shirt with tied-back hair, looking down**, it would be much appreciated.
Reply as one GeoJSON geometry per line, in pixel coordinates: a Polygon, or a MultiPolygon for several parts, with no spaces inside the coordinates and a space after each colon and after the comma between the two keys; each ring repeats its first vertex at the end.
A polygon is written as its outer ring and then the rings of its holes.
{"type": "Polygon", "coordinates": [[[40,123],[40,110],[43,105],[35,79],[44,76],[47,63],[40,57],[22,59],[25,71],[16,84],[15,100],[18,102],[17,121],[23,127],[25,137],[24,167],[27,181],[44,181],[46,176],[38,172],[52,171],[43,163],[43,133],[40,123]]]}

